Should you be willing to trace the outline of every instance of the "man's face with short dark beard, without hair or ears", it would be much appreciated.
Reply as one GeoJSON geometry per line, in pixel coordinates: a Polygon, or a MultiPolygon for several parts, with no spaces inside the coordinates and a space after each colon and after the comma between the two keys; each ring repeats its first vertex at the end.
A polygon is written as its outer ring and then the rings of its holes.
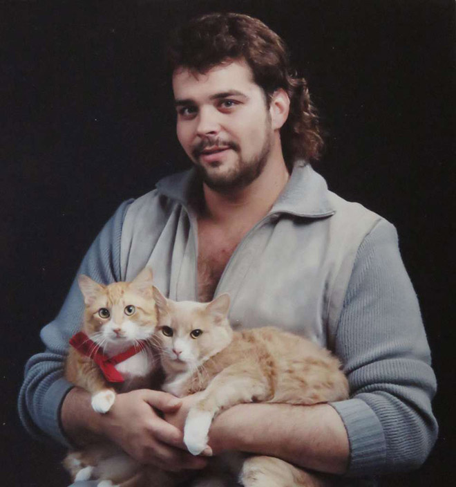
{"type": "Polygon", "coordinates": [[[243,61],[200,74],[173,75],[178,139],[214,190],[245,187],[265,167],[272,146],[263,90],[243,61]]]}

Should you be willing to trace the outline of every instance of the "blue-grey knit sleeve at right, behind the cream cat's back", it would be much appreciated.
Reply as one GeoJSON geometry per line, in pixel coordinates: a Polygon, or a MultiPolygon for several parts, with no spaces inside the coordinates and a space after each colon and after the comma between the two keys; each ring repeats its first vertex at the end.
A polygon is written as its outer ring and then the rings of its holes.
{"type": "Polygon", "coordinates": [[[417,296],[387,221],[357,252],[335,353],[350,383],[351,398],[332,403],[348,432],[348,475],[418,468],[437,437],[436,382],[417,296]]]}

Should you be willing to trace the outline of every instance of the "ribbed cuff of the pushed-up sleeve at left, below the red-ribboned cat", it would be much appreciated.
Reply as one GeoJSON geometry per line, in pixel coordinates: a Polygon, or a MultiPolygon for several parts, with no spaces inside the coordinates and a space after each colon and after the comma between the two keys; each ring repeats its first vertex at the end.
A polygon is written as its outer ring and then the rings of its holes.
{"type": "Polygon", "coordinates": [[[68,448],[71,448],[72,445],[61,427],[60,410],[66,394],[68,394],[73,387],[75,386],[69,383],[65,378],[55,380],[44,396],[41,424],[43,430],[48,432],[50,437],[57,440],[62,445],[66,445],[68,448]]]}

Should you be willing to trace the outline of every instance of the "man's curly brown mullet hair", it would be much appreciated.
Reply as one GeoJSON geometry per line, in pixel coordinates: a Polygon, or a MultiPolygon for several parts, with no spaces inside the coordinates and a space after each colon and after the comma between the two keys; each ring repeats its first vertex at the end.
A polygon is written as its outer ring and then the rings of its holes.
{"type": "Polygon", "coordinates": [[[178,67],[205,73],[222,62],[245,59],[254,81],[265,92],[268,105],[279,88],[289,96],[289,116],[281,128],[287,164],[302,158],[319,158],[323,139],[307,82],[292,71],[283,39],[260,20],[236,13],[212,13],[191,19],[171,33],[168,59],[171,73],[178,67]]]}

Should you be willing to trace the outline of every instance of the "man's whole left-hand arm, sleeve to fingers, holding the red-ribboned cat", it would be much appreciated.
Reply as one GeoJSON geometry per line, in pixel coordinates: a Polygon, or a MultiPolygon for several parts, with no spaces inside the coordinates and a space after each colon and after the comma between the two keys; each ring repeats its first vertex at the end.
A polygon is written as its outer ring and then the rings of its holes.
{"type": "MultiPolygon", "coordinates": [[[[84,257],[78,275],[86,274],[102,284],[121,279],[120,238],[128,205],[123,203],[106,223],[84,257]]],[[[41,331],[46,351],[30,358],[26,366],[19,393],[19,414],[26,429],[35,437],[52,437],[69,447],[108,437],[141,461],[163,461],[162,465],[167,463],[170,468],[203,466],[202,459],[191,458],[176,448],[182,446],[182,434],[153,410],[175,409],[175,398],[170,394],[120,394],[112,410],[102,415],[93,411],[87,392],[64,378],[68,340],[79,331],[83,311],[84,301],[75,279],[59,315],[41,331]],[[131,425],[132,417],[136,418],[136,428],[131,425]]]]}

